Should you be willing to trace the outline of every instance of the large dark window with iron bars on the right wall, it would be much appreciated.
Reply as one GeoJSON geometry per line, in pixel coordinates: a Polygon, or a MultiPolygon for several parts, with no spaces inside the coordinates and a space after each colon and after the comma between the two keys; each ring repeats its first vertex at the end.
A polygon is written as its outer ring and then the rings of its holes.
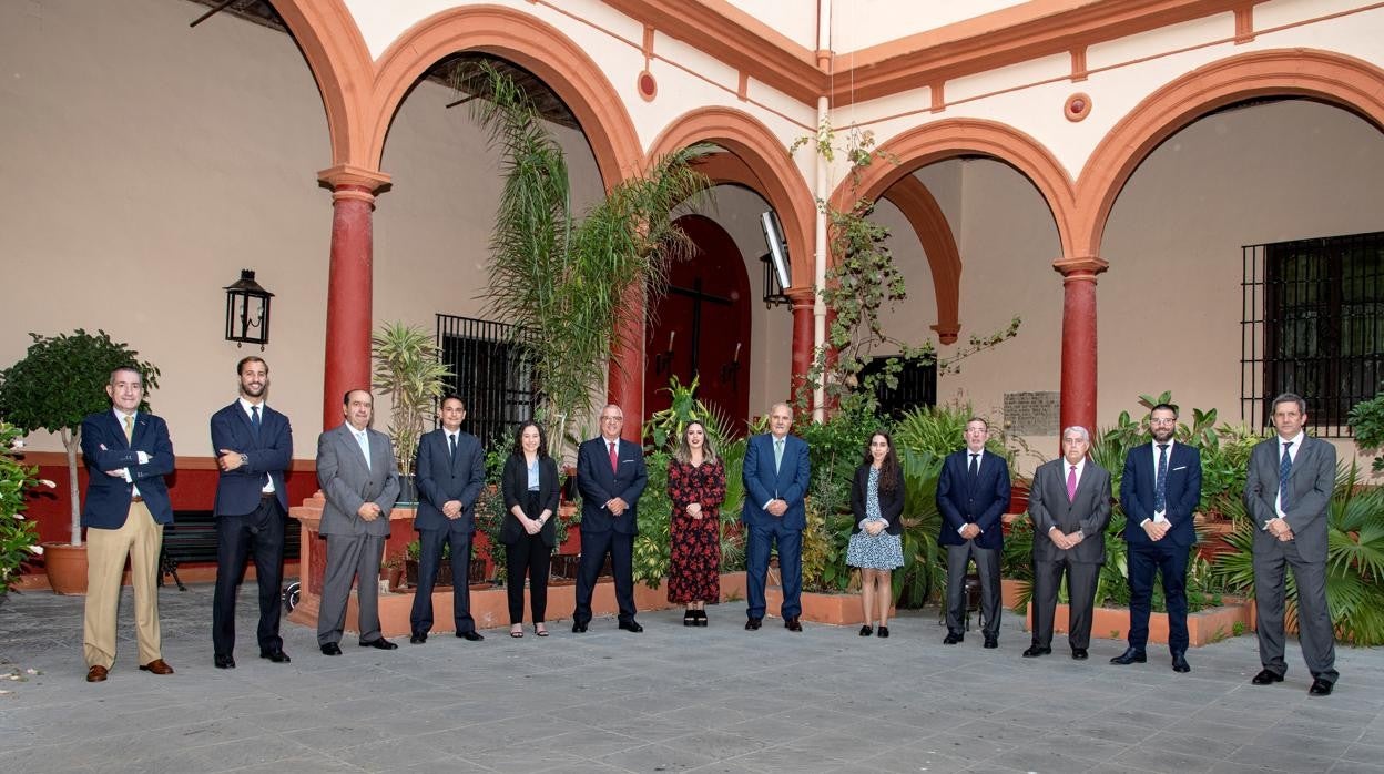
{"type": "Polygon", "coordinates": [[[1322,438],[1384,388],[1384,231],[1243,248],[1240,418],[1269,425],[1275,396],[1306,400],[1322,438]]]}

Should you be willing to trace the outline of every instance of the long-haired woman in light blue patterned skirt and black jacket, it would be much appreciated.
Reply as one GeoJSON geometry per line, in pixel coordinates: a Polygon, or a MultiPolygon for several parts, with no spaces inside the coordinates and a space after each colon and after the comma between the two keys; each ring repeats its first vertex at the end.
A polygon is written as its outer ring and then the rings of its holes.
{"type": "Polygon", "coordinates": [[[861,569],[861,605],[865,626],[861,637],[875,633],[875,605],[879,605],[879,636],[889,637],[889,608],[894,602],[893,570],[904,566],[904,469],[887,432],[869,439],[865,461],[851,483],[851,541],[846,564],[861,569]]]}

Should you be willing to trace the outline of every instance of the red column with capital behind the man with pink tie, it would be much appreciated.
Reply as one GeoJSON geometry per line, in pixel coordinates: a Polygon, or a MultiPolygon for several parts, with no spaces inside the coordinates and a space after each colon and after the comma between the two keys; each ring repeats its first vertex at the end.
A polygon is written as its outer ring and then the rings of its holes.
{"type": "Polygon", "coordinates": [[[1096,274],[1110,264],[1096,256],[1062,258],[1062,428],[1096,432],[1096,274]]]}

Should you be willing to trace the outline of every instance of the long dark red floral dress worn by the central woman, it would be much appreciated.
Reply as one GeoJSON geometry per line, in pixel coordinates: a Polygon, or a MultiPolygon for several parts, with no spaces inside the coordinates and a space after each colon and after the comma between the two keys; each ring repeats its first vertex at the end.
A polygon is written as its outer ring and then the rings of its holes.
{"type": "Polygon", "coordinates": [[[725,465],[668,462],[668,602],[717,602],[721,600],[721,501],[725,500],[725,465]],[[688,505],[702,504],[702,518],[688,515],[688,505]]]}

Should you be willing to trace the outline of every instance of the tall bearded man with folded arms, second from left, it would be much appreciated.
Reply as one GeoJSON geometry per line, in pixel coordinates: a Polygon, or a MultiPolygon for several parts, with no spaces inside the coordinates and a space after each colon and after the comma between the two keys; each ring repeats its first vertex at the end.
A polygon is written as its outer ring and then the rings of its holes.
{"type": "Polygon", "coordinates": [[[284,472],[293,461],[288,417],[264,403],[268,364],[253,354],[235,367],[239,397],[212,414],[212,450],[221,474],[216,482],[216,594],[212,598],[212,663],[235,669],[235,594],[245,558],[255,557],[260,658],[288,663],[278,636],[284,582],[284,528],[288,492],[284,472]]]}

